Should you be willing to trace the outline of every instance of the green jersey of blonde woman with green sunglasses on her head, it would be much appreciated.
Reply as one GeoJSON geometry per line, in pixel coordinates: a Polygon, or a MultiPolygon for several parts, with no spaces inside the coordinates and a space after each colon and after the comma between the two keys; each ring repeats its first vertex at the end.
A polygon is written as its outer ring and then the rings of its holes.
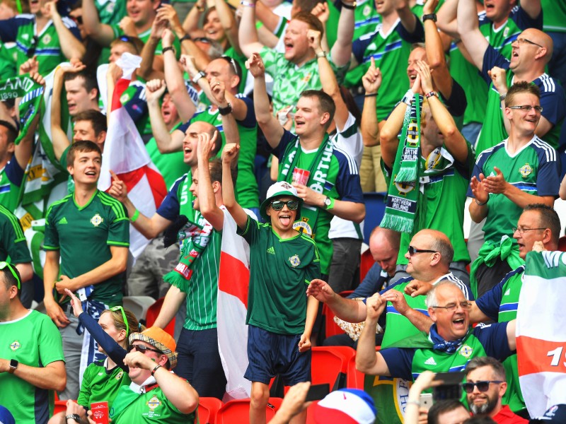
{"type": "Polygon", "coordinates": [[[104,362],[97,361],[86,367],[77,404],[90,409],[95,402],[108,402],[108,408],[112,408],[120,387],[129,386],[132,382],[122,368],[115,366],[112,370],[106,370],[104,362]]]}

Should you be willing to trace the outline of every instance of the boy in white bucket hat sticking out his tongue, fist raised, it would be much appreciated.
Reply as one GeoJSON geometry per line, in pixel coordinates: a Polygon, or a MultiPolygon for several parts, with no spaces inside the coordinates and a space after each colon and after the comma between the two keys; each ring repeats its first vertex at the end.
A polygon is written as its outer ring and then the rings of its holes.
{"type": "MultiPolygon", "coordinates": [[[[248,293],[248,370],[252,382],[250,423],[265,423],[269,382],[279,374],[286,385],[311,379],[311,331],[318,300],[306,297],[313,278],[320,276],[318,249],[311,237],[293,229],[301,216],[303,199],[287,182],[267,190],[260,206],[260,224],[236,202],[230,168],[238,155],[227,144],[222,159],[224,206],[238,225],[238,234],[250,244],[248,293]]],[[[291,423],[305,423],[306,411],[291,423]]]]}

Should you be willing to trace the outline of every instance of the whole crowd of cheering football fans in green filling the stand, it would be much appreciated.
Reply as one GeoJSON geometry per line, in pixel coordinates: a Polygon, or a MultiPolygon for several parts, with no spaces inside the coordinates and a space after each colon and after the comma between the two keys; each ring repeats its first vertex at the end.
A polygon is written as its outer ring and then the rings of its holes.
{"type": "Polygon", "coordinates": [[[249,247],[250,423],[275,375],[273,422],[306,422],[317,344],[406,389],[330,394],[320,422],[357,402],[355,422],[426,422],[420,392],[455,370],[465,402],[429,423],[535,418],[516,305],[526,254],[558,249],[564,81],[564,1],[0,0],[0,422],[93,423],[103,401],[118,424],[192,423],[223,399],[227,228],[249,247]],[[104,154],[120,107],[168,187],[152,214],[140,177],[99,189],[129,156],[104,154]],[[366,192],[385,213],[358,284],[366,192]],[[125,295],[165,297],[153,326],[125,295]],[[345,334],[325,339],[323,303],[345,334]]]}

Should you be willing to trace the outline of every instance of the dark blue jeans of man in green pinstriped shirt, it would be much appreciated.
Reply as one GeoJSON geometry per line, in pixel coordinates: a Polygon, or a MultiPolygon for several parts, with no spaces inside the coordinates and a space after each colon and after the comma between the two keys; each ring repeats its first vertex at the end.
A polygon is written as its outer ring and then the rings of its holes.
{"type": "Polygon", "coordinates": [[[179,357],[175,374],[187,379],[199,396],[221,400],[226,391],[226,376],[218,353],[216,329],[183,328],[177,342],[177,352],[179,357]]]}

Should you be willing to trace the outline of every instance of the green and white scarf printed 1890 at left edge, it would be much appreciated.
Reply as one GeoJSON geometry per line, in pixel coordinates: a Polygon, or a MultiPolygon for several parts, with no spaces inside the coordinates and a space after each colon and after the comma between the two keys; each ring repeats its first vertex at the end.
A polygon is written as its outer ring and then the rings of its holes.
{"type": "Polygon", "coordinates": [[[40,110],[42,95],[43,86],[33,81],[28,73],[0,82],[0,100],[22,98],[18,105],[20,110],[20,135],[14,141],[15,144],[20,143],[21,139],[28,134],[30,124],[40,110]]]}

